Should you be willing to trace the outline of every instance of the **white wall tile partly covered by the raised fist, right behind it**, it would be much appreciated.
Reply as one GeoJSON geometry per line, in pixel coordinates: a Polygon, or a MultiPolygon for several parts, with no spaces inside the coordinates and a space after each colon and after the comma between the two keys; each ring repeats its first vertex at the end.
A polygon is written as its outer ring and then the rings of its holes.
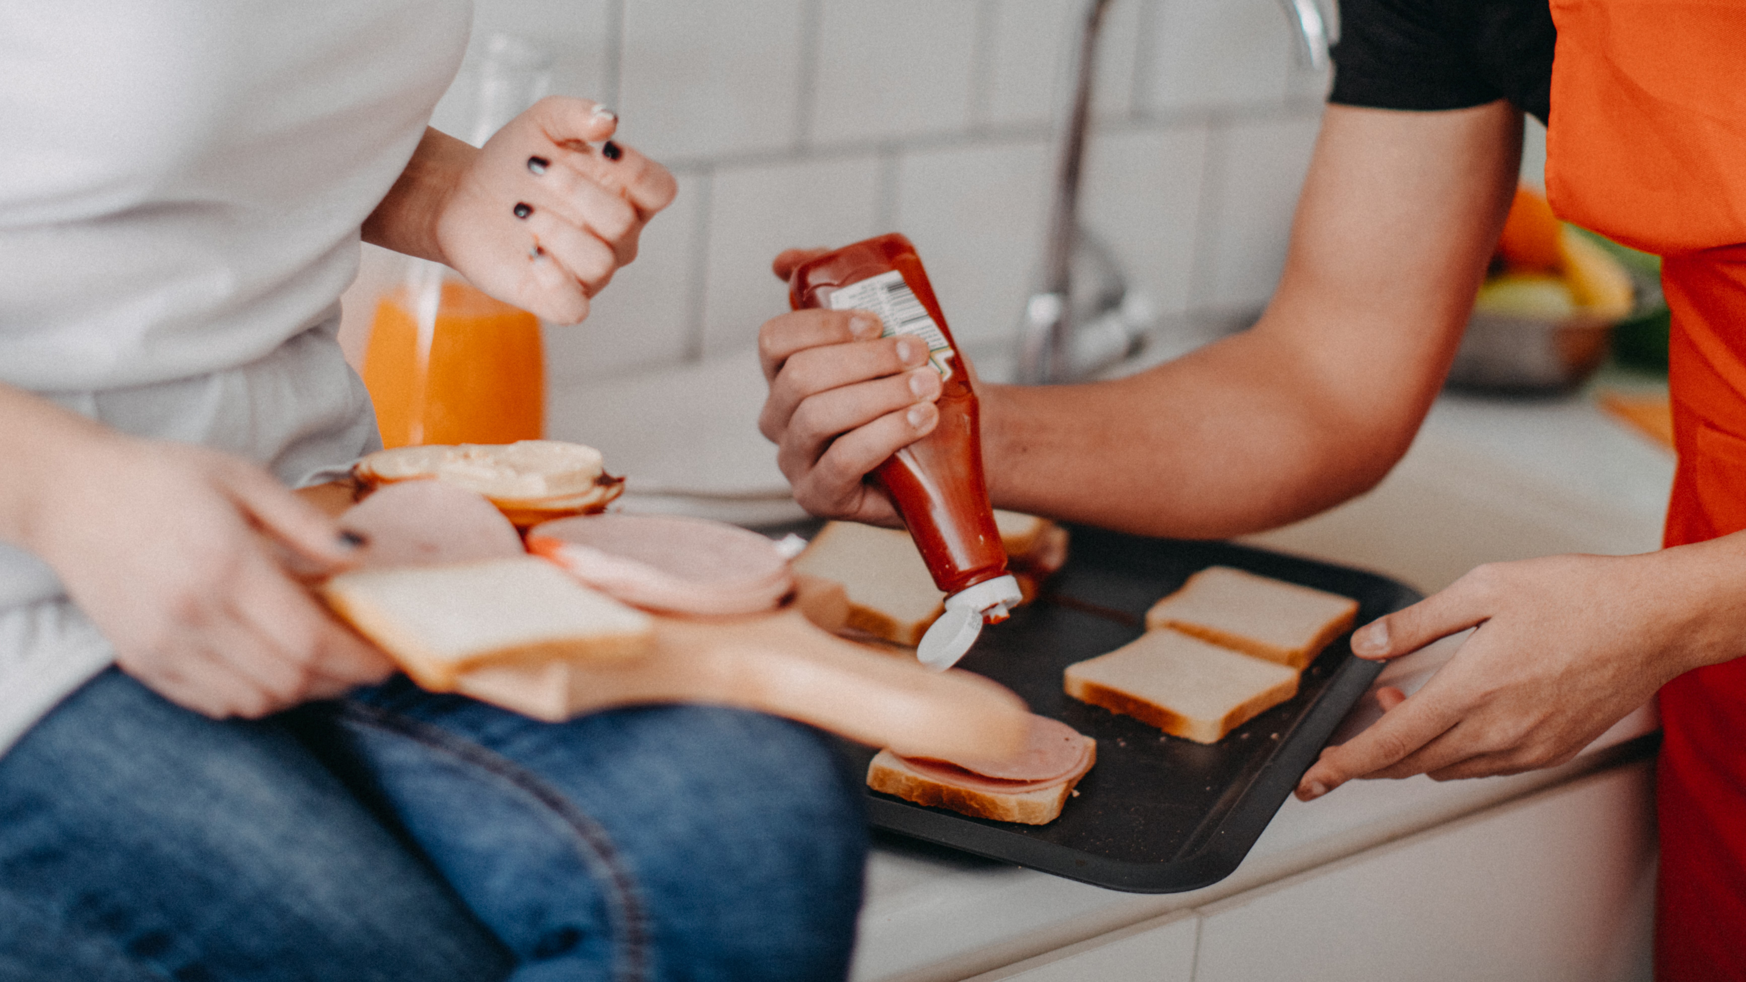
{"type": "Polygon", "coordinates": [[[594,298],[588,319],[574,326],[546,324],[552,387],[670,365],[690,351],[705,178],[676,176],[679,195],[643,228],[637,260],[594,298]]]}

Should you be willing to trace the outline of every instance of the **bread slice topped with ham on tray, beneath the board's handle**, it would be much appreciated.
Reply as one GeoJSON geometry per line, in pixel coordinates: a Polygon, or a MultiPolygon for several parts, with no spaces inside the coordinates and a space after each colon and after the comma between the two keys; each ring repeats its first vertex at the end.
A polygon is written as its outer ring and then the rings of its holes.
{"type": "Polygon", "coordinates": [[[880,750],[868,764],[868,787],[974,818],[1048,825],[1095,762],[1095,740],[1060,720],[1032,715],[1027,743],[1016,755],[932,760],[880,750]]]}

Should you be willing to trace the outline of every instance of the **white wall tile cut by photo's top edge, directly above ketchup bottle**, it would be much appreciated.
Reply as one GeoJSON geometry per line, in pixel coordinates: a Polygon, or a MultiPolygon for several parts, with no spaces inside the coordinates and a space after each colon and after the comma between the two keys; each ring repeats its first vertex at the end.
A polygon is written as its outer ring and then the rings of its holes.
{"type": "Polygon", "coordinates": [[[866,143],[960,131],[976,0],[821,0],[810,136],[866,143]]]}

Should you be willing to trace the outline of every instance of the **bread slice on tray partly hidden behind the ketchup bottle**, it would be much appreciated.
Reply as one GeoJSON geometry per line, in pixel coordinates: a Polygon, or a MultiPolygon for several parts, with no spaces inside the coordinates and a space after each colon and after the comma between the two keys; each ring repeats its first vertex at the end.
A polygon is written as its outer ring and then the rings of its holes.
{"type": "MultiPolygon", "coordinates": [[[[1035,515],[993,515],[1028,602],[1042,577],[1067,562],[1067,530],[1035,515]],[[1028,556],[1035,563],[1027,567],[1028,556]]],[[[946,595],[903,529],[826,522],[794,558],[794,574],[840,583],[849,595],[847,626],[892,644],[915,647],[946,609],[946,595]]]]}

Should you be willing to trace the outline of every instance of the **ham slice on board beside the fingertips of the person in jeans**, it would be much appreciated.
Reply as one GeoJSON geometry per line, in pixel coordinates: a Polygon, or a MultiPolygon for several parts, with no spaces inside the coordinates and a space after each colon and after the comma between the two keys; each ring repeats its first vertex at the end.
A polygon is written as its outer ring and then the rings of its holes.
{"type": "Polygon", "coordinates": [[[519,556],[522,537],[484,495],[443,481],[386,485],[346,509],[339,527],[363,535],[358,565],[466,563],[519,556]]]}

